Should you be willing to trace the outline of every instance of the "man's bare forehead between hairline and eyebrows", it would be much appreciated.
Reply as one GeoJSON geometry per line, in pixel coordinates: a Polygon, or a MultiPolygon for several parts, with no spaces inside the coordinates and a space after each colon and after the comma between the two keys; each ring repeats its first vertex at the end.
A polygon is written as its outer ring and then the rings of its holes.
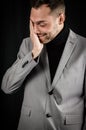
{"type": "Polygon", "coordinates": [[[34,20],[47,20],[51,18],[51,10],[47,5],[42,5],[39,8],[32,8],[30,13],[30,19],[34,20]]]}

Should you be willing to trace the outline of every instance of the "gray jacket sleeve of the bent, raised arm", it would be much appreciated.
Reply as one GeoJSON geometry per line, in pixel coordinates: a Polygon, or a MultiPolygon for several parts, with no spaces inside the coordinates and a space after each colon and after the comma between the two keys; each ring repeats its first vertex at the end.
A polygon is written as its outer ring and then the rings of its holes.
{"type": "Polygon", "coordinates": [[[3,76],[1,89],[5,93],[13,93],[21,87],[26,76],[37,64],[32,58],[29,42],[23,40],[16,61],[3,76]]]}

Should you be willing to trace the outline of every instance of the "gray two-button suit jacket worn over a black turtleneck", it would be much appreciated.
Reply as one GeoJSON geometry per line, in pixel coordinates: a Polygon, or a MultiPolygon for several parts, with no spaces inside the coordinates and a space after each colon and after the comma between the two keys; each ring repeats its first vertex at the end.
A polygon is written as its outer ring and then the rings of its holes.
{"type": "Polygon", "coordinates": [[[1,86],[5,93],[24,87],[18,130],[86,130],[86,39],[70,30],[52,84],[46,47],[37,62],[31,50],[24,39],[1,86]]]}

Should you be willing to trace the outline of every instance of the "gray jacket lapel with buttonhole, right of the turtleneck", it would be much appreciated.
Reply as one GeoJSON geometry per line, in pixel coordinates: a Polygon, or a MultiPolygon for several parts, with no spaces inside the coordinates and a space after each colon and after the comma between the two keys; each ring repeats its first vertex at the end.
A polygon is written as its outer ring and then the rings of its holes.
{"type": "Polygon", "coordinates": [[[59,62],[56,74],[55,74],[53,82],[52,82],[52,87],[55,86],[55,84],[58,82],[72,52],[74,51],[76,42],[77,42],[77,38],[76,38],[75,34],[70,30],[70,34],[69,34],[67,43],[65,45],[61,60],[59,62]]]}

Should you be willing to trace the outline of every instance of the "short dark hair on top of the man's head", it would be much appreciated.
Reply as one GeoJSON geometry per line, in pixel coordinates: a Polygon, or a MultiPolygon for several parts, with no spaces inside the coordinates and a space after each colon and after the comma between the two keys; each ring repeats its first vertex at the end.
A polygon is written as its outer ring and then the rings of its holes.
{"type": "Polygon", "coordinates": [[[31,0],[31,7],[33,8],[39,8],[43,4],[47,4],[51,11],[57,8],[65,10],[64,0],[31,0]]]}

